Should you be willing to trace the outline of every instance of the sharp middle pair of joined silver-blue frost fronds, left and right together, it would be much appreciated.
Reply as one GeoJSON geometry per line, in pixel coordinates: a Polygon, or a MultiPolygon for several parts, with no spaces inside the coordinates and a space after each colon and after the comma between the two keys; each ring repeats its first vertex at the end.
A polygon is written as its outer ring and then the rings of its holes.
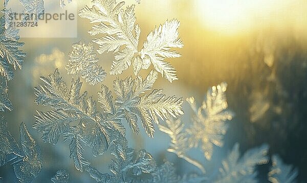
{"type": "Polygon", "coordinates": [[[144,80],[140,76],[136,80],[131,77],[116,79],[113,83],[117,95],[115,100],[111,91],[102,85],[98,93],[102,111],[98,111],[93,97],[86,98],[86,91],[80,94],[80,79],[72,80],[68,88],[55,70],[48,78],[40,77],[44,84],[34,88],[35,103],[50,106],[52,110],[37,111],[33,127],[42,133],[44,142],[56,144],[60,135],[63,135],[64,141],[70,141],[71,158],[76,169],[82,172],[90,165],[83,157],[83,144],[93,149],[94,156],[102,155],[118,138],[113,135],[114,131],[125,135],[122,120],[138,133],[139,118],[146,133],[153,137],[153,123],[159,123],[158,117],[166,119],[183,114],[182,100],[174,96],[165,97],[162,89],[144,94],[152,88],[157,75],[157,72],[151,71],[144,80]]]}

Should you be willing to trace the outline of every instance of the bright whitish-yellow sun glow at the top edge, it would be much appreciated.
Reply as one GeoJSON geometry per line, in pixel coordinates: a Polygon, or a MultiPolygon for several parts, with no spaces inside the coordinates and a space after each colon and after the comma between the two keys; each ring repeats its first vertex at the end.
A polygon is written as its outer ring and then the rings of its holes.
{"type": "Polygon", "coordinates": [[[296,0],[194,0],[203,24],[214,31],[237,33],[289,15],[296,0]],[[288,9],[287,9],[288,7],[288,9]],[[284,12],[288,10],[287,12],[284,12]]]}

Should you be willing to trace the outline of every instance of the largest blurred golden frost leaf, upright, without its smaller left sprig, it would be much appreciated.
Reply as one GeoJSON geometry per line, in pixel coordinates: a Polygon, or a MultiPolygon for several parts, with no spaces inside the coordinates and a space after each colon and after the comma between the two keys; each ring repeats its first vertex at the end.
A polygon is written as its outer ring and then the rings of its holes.
{"type": "Polygon", "coordinates": [[[206,102],[196,109],[194,98],[188,98],[195,112],[192,126],[188,127],[190,147],[198,147],[199,142],[207,159],[211,159],[213,145],[223,146],[223,138],[227,131],[227,121],[232,119],[232,113],[227,111],[226,83],[212,86],[207,92],[206,102]]]}

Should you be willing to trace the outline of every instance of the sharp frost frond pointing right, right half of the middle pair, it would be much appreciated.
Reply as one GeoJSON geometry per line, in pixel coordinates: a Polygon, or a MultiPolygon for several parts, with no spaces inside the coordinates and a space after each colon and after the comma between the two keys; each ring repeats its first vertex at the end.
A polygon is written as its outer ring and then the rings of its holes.
{"type": "MultiPolygon", "coordinates": [[[[154,89],[148,95],[143,94],[146,90],[151,90],[156,79],[156,71],[151,71],[144,80],[141,76],[138,76],[135,80],[131,77],[124,80],[116,79],[113,82],[113,88],[117,95],[115,102],[113,102],[111,91],[103,85],[101,92],[98,94],[98,102],[101,103],[101,108],[106,113],[106,118],[109,118],[109,115],[120,113],[122,114],[121,118],[128,122],[130,128],[135,133],[139,133],[137,124],[139,117],[148,136],[153,137],[155,132],[153,123],[159,124],[158,117],[165,120],[170,116],[182,115],[181,99],[174,96],[165,97],[162,89],[154,89]]],[[[111,120],[112,118],[109,119],[111,120]]]]}

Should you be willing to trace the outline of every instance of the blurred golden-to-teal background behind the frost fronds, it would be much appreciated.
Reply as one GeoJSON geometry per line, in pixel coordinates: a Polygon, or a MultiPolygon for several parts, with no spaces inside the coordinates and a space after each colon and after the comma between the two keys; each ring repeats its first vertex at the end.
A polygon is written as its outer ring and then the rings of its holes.
{"type": "MultiPolygon", "coordinates": [[[[46,0],[45,4],[57,2],[46,0]]],[[[57,2],[58,3],[58,2],[57,2]]],[[[90,1],[78,1],[78,9],[90,1]]],[[[135,1],[126,1],[126,5],[135,1]]],[[[70,5],[68,4],[67,7],[70,5]]],[[[177,70],[179,80],[169,83],[159,78],[155,88],[164,88],[166,95],[193,96],[201,104],[210,86],[223,81],[228,83],[228,106],[235,113],[223,148],[216,147],[211,162],[205,161],[201,152],[191,152],[200,159],[207,170],[219,167],[233,145],[238,142],[240,151],[270,145],[270,154],[279,154],[284,163],[299,169],[298,180],[307,180],[307,2],[299,0],[141,0],[136,5],[137,22],[141,27],[140,48],[147,34],[167,19],[181,22],[180,37],[184,48],[178,50],[181,58],[168,59],[177,70]]],[[[9,82],[9,97],[14,106],[5,117],[9,128],[19,140],[19,124],[25,122],[42,149],[45,164],[34,182],[50,179],[58,169],[67,169],[70,181],[89,180],[86,173],[75,170],[69,158],[69,143],[56,146],[45,144],[40,134],[32,129],[35,110],[33,87],[39,76],[46,76],[59,68],[64,80],[70,83],[64,66],[68,62],[71,45],[80,40],[90,42],[87,30],[89,20],[78,17],[76,38],[21,38],[25,42],[27,57],[23,70],[15,72],[9,82]]],[[[55,28],[57,29],[57,28],[55,28]]],[[[60,29],[60,28],[58,28],[60,29]]],[[[64,30],[63,30],[64,31],[64,30]]],[[[97,45],[95,44],[97,48],[97,45]]],[[[99,64],[109,71],[114,55],[98,55],[99,64]]],[[[149,70],[142,71],[146,76],[149,70]]],[[[133,75],[132,68],[120,78],[133,75]]],[[[105,85],[112,87],[116,76],[107,75],[105,85]]],[[[100,86],[83,82],[82,90],[88,90],[97,98],[100,86]]],[[[192,110],[184,102],[184,123],[190,122],[192,110]]],[[[156,129],[157,126],[156,126],[156,129]]],[[[129,145],[145,148],[158,163],[167,158],[174,163],[179,174],[200,173],[176,155],[166,151],[169,137],[158,131],[155,139],[141,130],[139,135],[127,130],[129,145]]],[[[87,151],[89,152],[89,151],[87,151]]],[[[94,167],[109,172],[111,156],[95,158],[87,154],[94,167]]],[[[13,176],[10,167],[0,169],[13,176]]],[[[269,165],[259,166],[259,178],[267,179],[269,165]]],[[[6,177],[5,176],[5,177],[6,177]]],[[[91,180],[91,179],[90,179],[91,180]]],[[[91,180],[92,181],[92,180],[91,180]]]]}

